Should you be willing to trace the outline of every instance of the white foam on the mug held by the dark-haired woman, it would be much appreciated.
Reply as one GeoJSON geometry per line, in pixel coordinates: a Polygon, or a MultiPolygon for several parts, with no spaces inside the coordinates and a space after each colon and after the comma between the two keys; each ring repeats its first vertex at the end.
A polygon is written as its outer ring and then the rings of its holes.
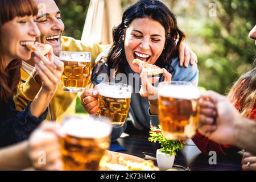
{"type": "Polygon", "coordinates": [[[128,88],[121,88],[120,86],[111,85],[105,86],[103,85],[100,88],[100,94],[104,97],[111,98],[131,98],[131,89],[127,92],[128,88]]]}

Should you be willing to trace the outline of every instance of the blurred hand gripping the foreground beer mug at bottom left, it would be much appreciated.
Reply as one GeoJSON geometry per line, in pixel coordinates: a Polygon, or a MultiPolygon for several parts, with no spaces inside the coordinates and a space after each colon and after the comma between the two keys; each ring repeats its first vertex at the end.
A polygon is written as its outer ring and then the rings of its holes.
{"type": "Polygon", "coordinates": [[[61,170],[60,136],[56,123],[43,123],[28,139],[27,154],[32,167],[39,170],[61,170]]]}

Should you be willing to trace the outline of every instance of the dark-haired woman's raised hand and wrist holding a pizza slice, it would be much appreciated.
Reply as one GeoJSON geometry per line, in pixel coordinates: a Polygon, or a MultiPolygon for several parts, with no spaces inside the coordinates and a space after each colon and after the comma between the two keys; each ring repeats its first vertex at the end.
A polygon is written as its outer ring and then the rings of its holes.
{"type": "MultiPolygon", "coordinates": [[[[150,103],[150,114],[157,115],[158,114],[158,95],[157,95],[157,88],[151,84],[151,78],[147,77],[146,70],[140,65],[140,77],[141,77],[141,89],[139,90],[139,94],[141,94],[141,97],[148,100],[150,103]]],[[[164,69],[164,81],[171,81],[172,75],[171,73],[167,72],[166,69],[164,69]]],[[[158,78],[159,79],[159,78],[158,78]]],[[[155,80],[156,81],[156,80],[155,80]]]]}

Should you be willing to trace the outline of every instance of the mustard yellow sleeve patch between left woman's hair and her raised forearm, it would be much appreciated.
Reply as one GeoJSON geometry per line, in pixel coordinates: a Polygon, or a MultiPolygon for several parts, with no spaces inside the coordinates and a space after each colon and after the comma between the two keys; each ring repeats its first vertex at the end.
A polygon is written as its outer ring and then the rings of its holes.
{"type": "Polygon", "coordinates": [[[36,82],[35,78],[30,74],[26,82],[20,82],[14,103],[17,110],[22,111],[26,108],[28,102],[34,100],[41,86],[36,82]]]}

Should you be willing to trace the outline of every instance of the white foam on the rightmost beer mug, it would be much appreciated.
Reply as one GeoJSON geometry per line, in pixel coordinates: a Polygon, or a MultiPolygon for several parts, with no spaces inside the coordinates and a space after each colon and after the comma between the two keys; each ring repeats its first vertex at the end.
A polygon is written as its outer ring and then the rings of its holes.
{"type": "Polygon", "coordinates": [[[200,98],[200,90],[193,85],[164,85],[159,88],[158,95],[163,97],[193,100],[200,98]]]}

